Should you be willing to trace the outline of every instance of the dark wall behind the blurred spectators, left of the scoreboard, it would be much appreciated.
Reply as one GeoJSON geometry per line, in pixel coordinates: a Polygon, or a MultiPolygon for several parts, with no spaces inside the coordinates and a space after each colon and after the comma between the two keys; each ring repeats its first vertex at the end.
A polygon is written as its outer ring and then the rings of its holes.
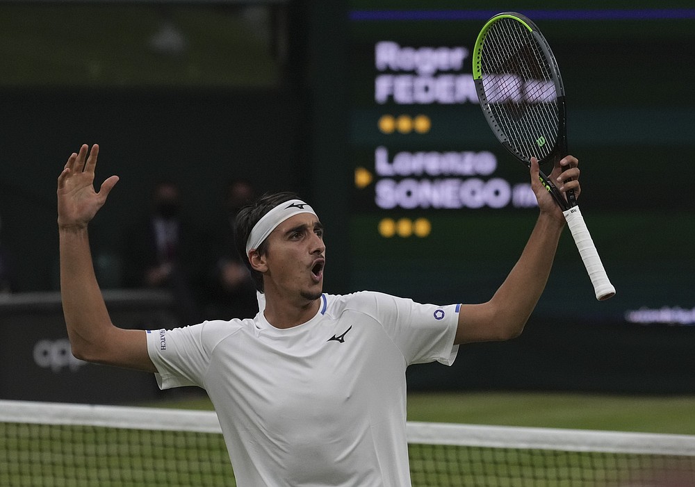
{"type": "Polygon", "coordinates": [[[56,288],[56,180],[83,143],[101,149],[97,184],[120,176],[90,227],[97,254],[122,249],[124,229],[149,211],[161,179],[181,186],[186,213],[210,231],[231,178],[302,190],[295,165],[302,108],[282,90],[6,90],[0,113],[1,235],[21,263],[20,290],[56,288]]]}

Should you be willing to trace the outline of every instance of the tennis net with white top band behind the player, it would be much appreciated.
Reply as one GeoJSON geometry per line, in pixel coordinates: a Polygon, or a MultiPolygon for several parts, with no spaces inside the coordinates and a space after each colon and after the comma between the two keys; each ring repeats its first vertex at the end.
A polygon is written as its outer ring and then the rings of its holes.
{"type": "MultiPolygon", "coordinates": [[[[409,422],[415,487],[695,486],[695,436],[409,422]]],[[[0,401],[0,486],[235,486],[217,416],[0,401]]]]}

